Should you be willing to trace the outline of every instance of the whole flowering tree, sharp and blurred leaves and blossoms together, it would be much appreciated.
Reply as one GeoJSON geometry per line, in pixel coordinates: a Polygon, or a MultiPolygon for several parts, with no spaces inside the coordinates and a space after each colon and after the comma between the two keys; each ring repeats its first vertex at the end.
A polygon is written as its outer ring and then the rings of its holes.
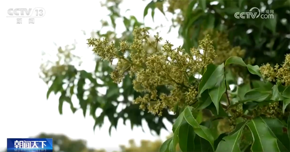
{"type": "Polygon", "coordinates": [[[151,28],[134,16],[122,17],[121,2],[113,2],[107,6],[111,24],[103,21],[103,25],[115,28],[115,19],[123,18],[126,31],[122,37],[98,31],[88,39],[97,54],[92,73],[77,70],[69,49],[59,49],[64,64],[42,66],[42,78],[52,83],[48,95],[61,93],[60,113],[63,102],[77,110],[71,102],[76,95],[84,115],[89,107],[95,126],[102,126],[105,116],[111,127],[120,118],[130,120],[131,127],[140,126],[144,118],[159,134],[165,128],[162,119],[167,118],[174,122],[174,135],[164,142],[162,152],[175,151],[178,143],[183,152],[290,151],[289,0],[151,1],[144,16],[151,9],[154,17],[155,8],[177,14],[173,27],[180,27],[184,39],[177,48],[168,41],[162,44],[158,34],[151,37],[151,28]],[[273,10],[274,18],[234,17],[253,7],[273,10]],[[118,64],[110,66],[114,58],[118,64]],[[90,83],[84,88],[86,79],[90,83]],[[97,88],[104,86],[107,92],[101,95],[97,88]],[[126,108],[117,113],[121,104],[126,108]],[[97,108],[103,111],[99,116],[97,108]],[[222,126],[221,120],[226,122],[222,126]]]}

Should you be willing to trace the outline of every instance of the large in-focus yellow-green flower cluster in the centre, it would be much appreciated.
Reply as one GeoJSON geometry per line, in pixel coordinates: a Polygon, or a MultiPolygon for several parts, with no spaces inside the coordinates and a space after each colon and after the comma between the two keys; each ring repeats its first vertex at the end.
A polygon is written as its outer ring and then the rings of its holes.
{"type": "Polygon", "coordinates": [[[192,104],[196,100],[197,86],[188,83],[189,76],[201,73],[201,69],[216,57],[209,35],[199,42],[198,48],[190,50],[191,54],[185,53],[181,47],[173,48],[168,41],[159,49],[157,46],[162,38],[157,34],[153,41],[149,41],[146,28],[136,28],[133,36],[131,45],[123,41],[118,49],[106,39],[88,39],[88,45],[93,46],[93,51],[104,60],[119,59],[111,73],[114,82],[121,82],[126,72],[134,77],[134,89],[146,93],[134,101],[141,109],[147,108],[161,115],[163,108],[173,110],[175,105],[192,104]],[[144,46],[149,46],[149,49],[144,46]],[[124,57],[126,51],[130,52],[129,57],[124,57]],[[157,94],[158,86],[166,86],[170,94],[157,94]]]}

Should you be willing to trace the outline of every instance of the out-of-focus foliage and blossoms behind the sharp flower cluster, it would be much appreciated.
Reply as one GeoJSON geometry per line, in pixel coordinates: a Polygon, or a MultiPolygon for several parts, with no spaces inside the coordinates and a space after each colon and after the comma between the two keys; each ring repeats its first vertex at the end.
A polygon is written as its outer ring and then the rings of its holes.
{"type": "MultiPolygon", "coordinates": [[[[132,32],[135,27],[145,27],[144,23],[138,21],[134,16],[124,17],[120,15],[120,3],[122,3],[121,0],[107,0],[102,3],[102,6],[110,11],[110,20],[101,21],[102,26],[113,27],[113,30],[100,29],[92,34],[92,37],[107,38],[108,41],[114,41],[116,48],[119,47],[120,41],[133,42],[132,32]],[[122,19],[126,27],[126,30],[119,37],[115,32],[116,19],[122,19]]],[[[204,35],[211,35],[217,55],[219,55],[215,62],[223,62],[229,56],[240,56],[248,64],[260,66],[270,63],[274,66],[282,64],[284,55],[290,53],[290,0],[153,0],[146,6],[144,17],[146,15],[154,17],[155,11],[160,11],[164,15],[165,13],[173,14],[173,18],[170,19],[172,21],[171,27],[179,28],[179,35],[184,40],[182,47],[187,52],[190,48],[197,47],[198,40],[204,35]],[[252,7],[257,7],[260,10],[273,10],[274,19],[260,17],[236,19],[234,17],[235,12],[248,12],[252,7]]],[[[146,28],[154,31],[155,27],[146,28]]],[[[150,46],[144,47],[150,51],[150,46]]],[[[74,45],[59,48],[58,61],[44,59],[40,67],[39,75],[49,86],[47,98],[52,92],[61,94],[59,97],[60,114],[62,114],[64,102],[71,105],[73,113],[76,110],[82,110],[86,116],[86,111],[90,111],[90,116],[95,119],[94,129],[96,126],[101,127],[104,118],[108,117],[111,123],[109,133],[112,127],[117,127],[119,119],[123,119],[124,122],[129,120],[131,128],[142,126],[141,121],[144,119],[148,127],[158,135],[160,130],[165,128],[162,122],[164,118],[173,123],[178,112],[172,114],[164,109],[163,115],[158,117],[148,113],[148,111],[140,110],[139,105],[132,104],[132,100],[142,96],[143,93],[133,89],[132,78],[128,75],[121,84],[113,83],[110,72],[116,65],[101,61],[96,56],[93,72],[79,70],[76,64],[81,64],[82,61],[80,57],[71,52],[74,49],[74,45]],[[104,87],[106,93],[99,93],[98,88],[104,87]],[[79,106],[73,105],[72,96],[77,97],[79,106]],[[126,108],[123,108],[121,112],[116,112],[117,106],[120,104],[126,108]],[[96,115],[97,109],[102,110],[100,115],[96,115]]],[[[239,85],[237,80],[240,78],[253,85],[251,82],[260,79],[255,75],[249,76],[245,68],[235,66],[230,68],[232,73],[226,75],[229,84],[239,85]]],[[[169,93],[170,90],[166,86],[159,86],[158,92],[169,93]]]]}

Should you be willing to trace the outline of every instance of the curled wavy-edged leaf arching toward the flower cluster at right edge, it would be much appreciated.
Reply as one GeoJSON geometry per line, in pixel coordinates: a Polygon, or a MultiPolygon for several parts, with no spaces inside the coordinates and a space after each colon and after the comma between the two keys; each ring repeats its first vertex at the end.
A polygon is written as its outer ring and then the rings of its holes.
{"type": "Polygon", "coordinates": [[[229,57],[229,58],[226,60],[224,66],[226,66],[226,65],[230,65],[230,64],[238,64],[238,65],[240,65],[240,66],[247,67],[250,73],[252,73],[252,74],[254,74],[254,75],[258,75],[259,77],[261,77],[261,78],[265,81],[264,77],[263,77],[263,76],[261,75],[261,73],[260,73],[259,66],[257,66],[257,65],[252,66],[252,65],[250,65],[250,64],[245,64],[245,62],[243,61],[242,58],[240,58],[240,57],[236,57],[236,56],[229,57]]]}

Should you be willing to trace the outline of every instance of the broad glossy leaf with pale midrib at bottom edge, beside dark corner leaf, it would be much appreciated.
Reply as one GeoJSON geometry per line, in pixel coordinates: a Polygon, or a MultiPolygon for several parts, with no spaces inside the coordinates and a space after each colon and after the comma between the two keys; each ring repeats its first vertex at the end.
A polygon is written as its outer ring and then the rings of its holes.
{"type": "Polygon", "coordinates": [[[247,123],[247,126],[249,126],[253,135],[252,151],[280,152],[277,139],[271,135],[267,125],[260,118],[251,120],[247,123]]]}

